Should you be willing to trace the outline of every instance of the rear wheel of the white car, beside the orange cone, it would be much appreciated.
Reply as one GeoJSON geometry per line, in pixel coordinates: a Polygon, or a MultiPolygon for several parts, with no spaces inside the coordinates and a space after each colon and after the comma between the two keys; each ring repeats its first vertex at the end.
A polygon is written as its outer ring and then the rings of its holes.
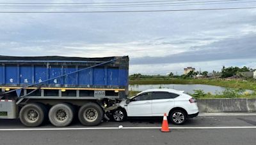
{"type": "Polygon", "coordinates": [[[175,110],[172,111],[172,113],[169,115],[170,121],[172,121],[175,125],[182,125],[186,121],[186,113],[181,110],[175,110]]]}

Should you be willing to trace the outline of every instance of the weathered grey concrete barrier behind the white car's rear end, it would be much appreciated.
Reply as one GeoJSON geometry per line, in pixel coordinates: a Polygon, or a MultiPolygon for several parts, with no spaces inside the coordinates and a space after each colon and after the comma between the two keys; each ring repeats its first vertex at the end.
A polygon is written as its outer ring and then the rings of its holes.
{"type": "Polygon", "coordinates": [[[256,113],[256,99],[197,99],[200,113],[256,113]]]}

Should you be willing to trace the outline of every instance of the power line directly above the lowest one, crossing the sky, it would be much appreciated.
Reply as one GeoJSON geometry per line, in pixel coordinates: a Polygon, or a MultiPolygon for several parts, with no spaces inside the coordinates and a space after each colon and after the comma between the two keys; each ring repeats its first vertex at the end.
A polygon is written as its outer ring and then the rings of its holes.
{"type": "MultiPolygon", "coordinates": [[[[161,5],[161,7],[163,6],[197,6],[197,5],[211,5],[211,4],[236,4],[236,3],[256,3],[256,1],[237,1],[237,2],[226,2],[226,3],[202,3],[202,4],[166,4],[166,5],[161,5]]],[[[159,6],[95,6],[92,8],[148,8],[148,7],[159,7],[159,6]]],[[[17,8],[17,9],[40,9],[40,8],[44,8],[45,7],[36,7],[36,8],[31,8],[31,7],[12,7],[12,8],[6,8],[6,7],[0,7],[0,9],[13,9],[13,8],[17,8]]],[[[72,7],[51,7],[51,8],[65,8],[65,9],[70,9],[72,7]]],[[[74,8],[87,8],[84,6],[76,6],[73,7],[74,8]]],[[[90,7],[89,7],[90,8],[90,7]]]]}

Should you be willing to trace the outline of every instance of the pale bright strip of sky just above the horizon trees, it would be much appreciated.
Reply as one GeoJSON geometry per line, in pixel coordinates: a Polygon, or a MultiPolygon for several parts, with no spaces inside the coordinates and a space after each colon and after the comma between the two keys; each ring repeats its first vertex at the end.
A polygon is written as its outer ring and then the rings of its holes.
{"type": "Polygon", "coordinates": [[[141,74],[183,74],[185,67],[195,67],[196,71],[221,71],[222,66],[230,67],[247,66],[250,68],[256,68],[255,59],[232,59],[232,60],[214,60],[204,62],[180,62],[180,63],[168,63],[168,64],[131,64],[129,74],[141,73],[141,74]]]}

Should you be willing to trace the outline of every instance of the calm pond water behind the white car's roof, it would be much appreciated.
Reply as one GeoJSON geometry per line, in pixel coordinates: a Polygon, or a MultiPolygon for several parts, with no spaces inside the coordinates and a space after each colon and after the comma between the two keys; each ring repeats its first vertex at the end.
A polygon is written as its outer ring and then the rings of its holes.
{"type": "MultiPolygon", "coordinates": [[[[172,88],[175,90],[184,90],[185,93],[194,93],[194,90],[204,90],[205,93],[211,92],[216,94],[216,92],[223,92],[225,87],[222,86],[212,86],[212,85],[179,85],[179,84],[165,84],[165,85],[129,85],[129,90],[132,91],[143,91],[150,88],[172,88]]],[[[251,90],[246,90],[252,92],[251,90]]]]}

